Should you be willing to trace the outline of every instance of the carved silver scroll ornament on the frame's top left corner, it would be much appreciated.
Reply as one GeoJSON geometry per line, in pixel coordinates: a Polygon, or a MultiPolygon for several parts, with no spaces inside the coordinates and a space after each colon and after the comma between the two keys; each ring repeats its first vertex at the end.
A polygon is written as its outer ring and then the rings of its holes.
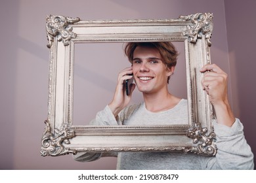
{"type": "Polygon", "coordinates": [[[80,18],[49,15],[46,20],[48,48],[51,48],[53,45],[53,39],[57,35],[60,35],[58,37],[58,41],[62,41],[65,46],[69,44],[72,38],[76,37],[76,34],[72,32],[72,27],[68,27],[68,25],[79,22],[80,18]]]}

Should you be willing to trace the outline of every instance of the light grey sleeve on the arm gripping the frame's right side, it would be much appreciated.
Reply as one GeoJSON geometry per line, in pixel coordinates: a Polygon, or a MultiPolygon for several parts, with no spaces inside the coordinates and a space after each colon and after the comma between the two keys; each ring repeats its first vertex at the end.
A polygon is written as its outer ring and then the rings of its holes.
{"type": "Polygon", "coordinates": [[[238,118],[231,127],[213,122],[217,154],[204,158],[205,169],[253,169],[253,153],[244,137],[244,126],[238,118]]]}

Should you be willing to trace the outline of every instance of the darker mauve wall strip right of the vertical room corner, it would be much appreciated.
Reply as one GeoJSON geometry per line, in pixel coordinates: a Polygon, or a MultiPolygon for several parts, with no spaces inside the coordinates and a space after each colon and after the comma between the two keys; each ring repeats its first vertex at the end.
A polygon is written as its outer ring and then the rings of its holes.
{"type": "Polygon", "coordinates": [[[244,124],[245,137],[255,154],[256,1],[224,1],[224,5],[233,109],[244,124]]]}

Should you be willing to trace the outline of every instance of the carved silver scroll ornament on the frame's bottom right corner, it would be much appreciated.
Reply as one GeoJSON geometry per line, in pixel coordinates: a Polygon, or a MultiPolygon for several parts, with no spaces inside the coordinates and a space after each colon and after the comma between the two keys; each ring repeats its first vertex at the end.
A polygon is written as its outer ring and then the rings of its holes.
{"type": "Polygon", "coordinates": [[[202,154],[205,156],[215,156],[217,154],[216,135],[214,132],[207,133],[207,128],[202,127],[200,123],[195,123],[194,128],[188,129],[188,137],[193,139],[193,143],[198,144],[197,147],[192,148],[192,152],[202,154]]]}

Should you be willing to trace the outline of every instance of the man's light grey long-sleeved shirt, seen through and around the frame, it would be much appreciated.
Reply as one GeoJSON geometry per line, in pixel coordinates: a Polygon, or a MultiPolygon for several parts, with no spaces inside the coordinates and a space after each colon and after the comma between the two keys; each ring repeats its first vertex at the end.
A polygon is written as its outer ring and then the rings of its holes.
{"type": "MultiPolygon", "coordinates": [[[[174,125],[188,124],[187,101],[163,112],[150,112],[145,104],[124,108],[117,118],[108,106],[98,112],[92,125],[174,125]],[[139,124],[138,124],[139,122],[139,124]]],[[[253,169],[253,154],[244,138],[243,125],[236,118],[232,127],[213,122],[217,135],[216,156],[205,157],[182,152],[119,152],[117,169],[253,169]]],[[[80,152],[77,161],[94,161],[100,153],[80,152]]]]}

